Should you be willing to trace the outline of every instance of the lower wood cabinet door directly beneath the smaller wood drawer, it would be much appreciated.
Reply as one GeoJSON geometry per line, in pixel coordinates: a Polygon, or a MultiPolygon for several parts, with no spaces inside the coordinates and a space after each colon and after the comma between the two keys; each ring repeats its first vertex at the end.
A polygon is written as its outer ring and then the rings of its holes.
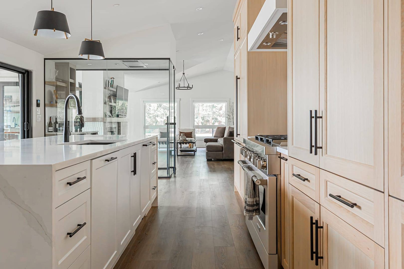
{"type": "Polygon", "coordinates": [[[289,269],[318,268],[311,260],[316,220],[320,220],[320,204],[289,184],[289,269]]]}

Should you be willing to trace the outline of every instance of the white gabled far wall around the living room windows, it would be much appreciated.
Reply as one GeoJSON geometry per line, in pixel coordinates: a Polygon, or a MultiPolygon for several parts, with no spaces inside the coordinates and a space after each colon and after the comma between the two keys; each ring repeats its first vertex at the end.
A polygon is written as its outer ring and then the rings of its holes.
{"type": "MultiPolygon", "coordinates": [[[[179,79],[180,77],[177,77],[179,79]]],[[[194,88],[189,91],[175,90],[175,98],[179,99],[179,128],[192,127],[191,99],[195,98],[226,98],[234,102],[234,73],[230,71],[216,71],[197,77],[187,77],[194,88]]],[[[128,133],[143,134],[143,99],[168,100],[168,85],[162,85],[149,90],[134,92],[136,78],[125,78],[125,88],[129,89],[128,97],[128,133]]],[[[177,82],[178,83],[178,82],[177,82]]]]}

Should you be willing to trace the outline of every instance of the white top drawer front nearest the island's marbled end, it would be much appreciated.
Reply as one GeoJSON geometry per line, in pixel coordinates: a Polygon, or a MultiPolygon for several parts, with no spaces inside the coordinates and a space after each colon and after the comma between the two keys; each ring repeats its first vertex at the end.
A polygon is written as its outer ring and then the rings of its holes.
{"type": "Polygon", "coordinates": [[[86,161],[55,172],[55,208],[90,188],[90,171],[90,161],[86,161]]]}

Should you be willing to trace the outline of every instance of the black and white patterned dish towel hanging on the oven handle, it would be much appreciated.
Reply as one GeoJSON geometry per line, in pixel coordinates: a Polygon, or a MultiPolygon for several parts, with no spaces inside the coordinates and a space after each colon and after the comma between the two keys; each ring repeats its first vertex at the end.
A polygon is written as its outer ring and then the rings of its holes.
{"type": "Polygon", "coordinates": [[[259,215],[259,187],[255,184],[255,181],[252,180],[254,174],[250,171],[247,171],[247,179],[246,179],[246,191],[244,194],[244,215],[248,216],[249,220],[252,220],[252,217],[259,215]]]}

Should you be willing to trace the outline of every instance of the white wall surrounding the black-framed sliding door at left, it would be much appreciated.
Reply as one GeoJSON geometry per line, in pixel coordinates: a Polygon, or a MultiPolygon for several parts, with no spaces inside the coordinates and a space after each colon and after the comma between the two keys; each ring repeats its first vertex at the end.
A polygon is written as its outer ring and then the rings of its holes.
{"type": "Polygon", "coordinates": [[[32,70],[32,136],[44,136],[44,56],[38,52],[0,38],[0,61],[32,70]],[[41,101],[41,121],[36,121],[36,99],[41,101]]]}

